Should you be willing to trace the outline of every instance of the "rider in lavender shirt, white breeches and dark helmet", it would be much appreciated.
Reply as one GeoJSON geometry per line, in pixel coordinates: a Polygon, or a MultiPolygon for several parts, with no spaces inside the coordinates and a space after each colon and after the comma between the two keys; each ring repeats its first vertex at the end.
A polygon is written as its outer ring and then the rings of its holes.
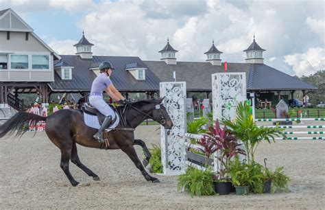
{"type": "Polygon", "coordinates": [[[115,89],[112,81],[110,81],[110,75],[112,74],[113,69],[114,68],[110,62],[101,62],[99,65],[100,73],[91,85],[89,102],[92,106],[95,106],[101,114],[106,116],[103,124],[101,124],[101,127],[98,129],[98,132],[93,136],[99,142],[104,142],[104,130],[112,123],[112,119],[115,119],[116,117],[112,108],[110,108],[110,106],[108,106],[108,104],[103,100],[103,91],[105,90],[106,93],[116,102],[125,104],[125,97],[115,89]]]}

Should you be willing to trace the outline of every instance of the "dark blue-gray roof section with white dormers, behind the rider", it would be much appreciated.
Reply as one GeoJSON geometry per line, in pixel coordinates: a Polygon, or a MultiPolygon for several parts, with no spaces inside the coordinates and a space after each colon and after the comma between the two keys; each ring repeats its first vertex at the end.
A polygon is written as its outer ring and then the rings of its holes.
{"type": "Polygon", "coordinates": [[[110,79],[119,91],[158,91],[159,78],[145,65],[139,57],[122,56],[93,56],[93,59],[82,59],[75,55],[62,55],[62,60],[67,62],[72,69],[72,80],[62,80],[58,73],[54,75],[54,81],[49,83],[53,91],[90,91],[91,84],[96,75],[90,70],[98,63],[109,61],[114,66],[110,79]],[[139,63],[147,68],[145,70],[145,80],[136,80],[130,72],[125,71],[125,66],[129,63],[139,63]]]}

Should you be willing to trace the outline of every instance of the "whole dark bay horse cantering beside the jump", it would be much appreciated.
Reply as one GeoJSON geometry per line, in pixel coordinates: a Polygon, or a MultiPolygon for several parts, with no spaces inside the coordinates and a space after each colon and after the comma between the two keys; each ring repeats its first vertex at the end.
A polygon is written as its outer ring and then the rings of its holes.
{"type": "MultiPolygon", "coordinates": [[[[167,114],[166,108],[161,104],[163,99],[158,100],[143,100],[134,102],[125,106],[117,107],[117,111],[124,110],[121,118],[126,119],[125,128],[136,128],[145,119],[154,119],[158,121],[166,129],[171,129],[173,122],[167,114]]],[[[83,165],[77,154],[76,143],[88,148],[104,148],[106,150],[121,149],[128,154],[134,165],[141,171],[147,181],[153,183],[159,182],[158,178],[150,176],[143,167],[141,161],[136,155],[134,145],[141,145],[149,161],[150,153],[147,150],[145,143],[141,139],[134,139],[134,131],[120,130],[123,129],[121,121],[117,126],[117,130],[108,132],[109,146],[106,148],[103,143],[93,139],[93,135],[97,129],[86,126],[84,123],[84,114],[81,110],[62,109],[49,117],[41,117],[32,113],[19,112],[8,119],[0,126],[0,138],[5,135],[12,135],[16,132],[16,136],[23,135],[27,130],[29,123],[33,121],[35,124],[38,121],[46,121],[45,132],[47,137],[61,150],[60,167],[64,174],[70,180],[71,185],[77,186],[79,183],[73,178],[69,171],[69,161],[80,167],[88,176],[93,176],[94,180],[99,180],[97,174],[92,172],[88,167],[83,165]]]]}

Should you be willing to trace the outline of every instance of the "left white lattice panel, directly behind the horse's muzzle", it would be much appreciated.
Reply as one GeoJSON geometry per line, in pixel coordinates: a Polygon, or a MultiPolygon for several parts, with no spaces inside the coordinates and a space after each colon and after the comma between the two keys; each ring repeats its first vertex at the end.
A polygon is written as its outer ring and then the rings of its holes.
{"type": "Polygon", "coordinates": [[[173,121],[169,135],[160,126],[163,173],[178,175],[185,170],[186,82],[160,82],[160,97],[165,97],[163,103],[173,121]]]}

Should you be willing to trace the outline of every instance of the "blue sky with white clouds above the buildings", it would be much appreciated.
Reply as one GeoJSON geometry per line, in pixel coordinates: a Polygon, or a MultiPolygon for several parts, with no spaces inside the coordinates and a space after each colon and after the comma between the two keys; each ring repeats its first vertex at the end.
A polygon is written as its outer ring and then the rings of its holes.
{"type": "Polygon", "coordinates": [[[325,69],[324,1],[1,0],[59,54],[74,54],[82,36],[95,55],[159,60],[167,37],[178,61],[206,60],[215,40],[222,61],[245,62],[256,42],[265,64],[290,75],[325,69]]]}

